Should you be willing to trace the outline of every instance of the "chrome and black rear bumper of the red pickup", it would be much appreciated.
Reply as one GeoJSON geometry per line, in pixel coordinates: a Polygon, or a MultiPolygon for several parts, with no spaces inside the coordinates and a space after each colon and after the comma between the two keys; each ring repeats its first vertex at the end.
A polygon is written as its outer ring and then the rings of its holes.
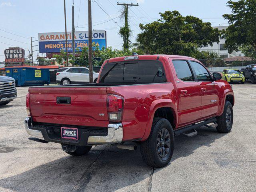
{"type": "Polygon", "coordinates": [[[47,142],[86,146],[120,143],[123,139],[123,126],[121,123],[109,124],[106,130],[78,128],[78,140],[61,138],[59,129],[60,126],[33,126],[31,117],[27,117],[25,119],[26,132],[34,137],[44,138],[44,140],[47,142]]]}

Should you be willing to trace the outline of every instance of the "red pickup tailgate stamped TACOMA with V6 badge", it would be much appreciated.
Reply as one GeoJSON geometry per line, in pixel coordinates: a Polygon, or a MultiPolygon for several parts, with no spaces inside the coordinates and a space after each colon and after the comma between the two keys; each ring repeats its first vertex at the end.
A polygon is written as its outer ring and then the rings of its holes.
{"type": "Polygon", "coordinates": [[[33,121],[78,126],[108,126],[106,87],[31,87],[33,121]],[[70,104],[57,103],[70,97],[70,104]]]}

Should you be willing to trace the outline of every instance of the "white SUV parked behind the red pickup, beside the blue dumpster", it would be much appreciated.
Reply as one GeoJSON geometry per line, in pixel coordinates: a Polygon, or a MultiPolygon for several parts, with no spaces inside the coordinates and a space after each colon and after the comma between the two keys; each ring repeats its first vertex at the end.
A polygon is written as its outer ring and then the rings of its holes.
{"type": "MultiPolygon", "coordinates": [[[[93,82],[98,80],[98,73],[93,72],[93,82]]],[[[64,67],[56,73],[56,82],[62,85],[89,83],[89,69],[87,67],[64,67]]]]}

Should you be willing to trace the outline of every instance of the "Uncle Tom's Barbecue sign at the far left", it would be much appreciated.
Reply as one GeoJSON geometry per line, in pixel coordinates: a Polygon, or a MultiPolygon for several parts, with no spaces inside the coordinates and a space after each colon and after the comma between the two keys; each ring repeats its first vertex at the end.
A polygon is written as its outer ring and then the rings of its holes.
{"type": "Polygon", "coordinates": [[[25,62],[25,50],[20,47],[9,47],[4,50],[6,63],[20,63],[25,62]]]}

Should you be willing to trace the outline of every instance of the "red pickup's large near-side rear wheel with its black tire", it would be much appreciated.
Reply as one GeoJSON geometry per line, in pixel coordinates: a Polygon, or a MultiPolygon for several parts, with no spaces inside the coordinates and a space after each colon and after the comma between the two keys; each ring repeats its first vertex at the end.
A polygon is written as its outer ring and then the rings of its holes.
{"type": "Polygon", "coordinates": [[[140,143],[142,158],[152,167],[166,166],[174,150],[172,125],[165,118],[154,118],[148,139],[140,143]]]}

